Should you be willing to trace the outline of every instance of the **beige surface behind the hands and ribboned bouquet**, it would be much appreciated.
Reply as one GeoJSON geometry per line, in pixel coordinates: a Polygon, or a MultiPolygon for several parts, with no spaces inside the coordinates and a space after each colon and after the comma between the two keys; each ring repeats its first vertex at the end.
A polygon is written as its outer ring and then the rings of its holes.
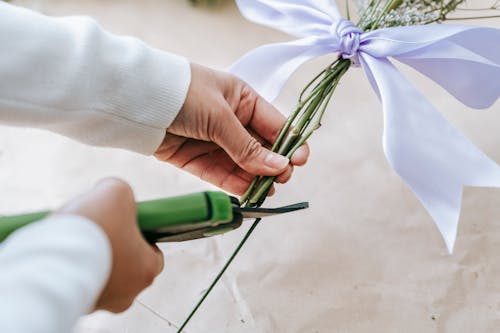
{"type": "MultiPolygon", "coordinates": [[[[17,3],[51,15],[91,15],[115,33],[217,68],[260,44],[289,38],[246,22],[232,4],[211,11],[182,0],[17,3]]],[[[498,20],[482,24],[500,27],[498,20]]],[[[328,58],[293,76],[276,103],[284,113],[328,58]]],[[[500,161],[500,103],[469,110],[404,71],[500,161]]],[[[500,190],[465,190],[455,253],[448,255],[430,217],[385,161],[381,133],[379,103],[363,73],[353,70],[310,142],[309,164],[269,201],[308,200],[311,208],[261,224],[187,332],[500,331],[500,190]]],[[[0,213],[57,206],[108,175],[129,181],[139,199],[210,188],[149,157],[31,129],[0,129],[0,213]]],[[[162,246],[165,272],[128,312],[94,314],[75,332],[175,332],[243,229],[162,246]]]]}

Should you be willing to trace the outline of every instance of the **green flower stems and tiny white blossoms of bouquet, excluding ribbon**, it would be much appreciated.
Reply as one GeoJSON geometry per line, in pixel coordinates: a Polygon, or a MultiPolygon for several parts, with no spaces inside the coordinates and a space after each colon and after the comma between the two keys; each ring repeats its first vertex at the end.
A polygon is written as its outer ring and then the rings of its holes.
{"type": "MultiPolygon", "coordinates": [[[[384,27],[440,23],[448,18],[466,0],[356,0],[360,15],[357,26],[363,31],[376,30],[384,27]]],[[[349,3],[346,7],[349,15],[349,3]]],[[[490,7],[473,10],[499,10],[500,0],[496,0],[490,7]]],[[[467,10],[467,9],[466,9],[467,10]]],[[[470,9],[469,9],[470,10],[470,9]]],[[[490,18],[500,16],[463,17],[490,18]]],[[[276,142],[271,150],[291,158],[293,153],[301,147],[321,127],[321,120],[327,110],[332,95],[341,78],[349,70],[352,63],[350,59],[339,56],[333,63],[321,71],[302,90],[295,111],[289,116],[281,129],[276,142]]],[[[240,203],[245,207],[260,207],[266,199],[275,177],[257,176],[253,179],[246,193],[241,197],[240,203]]],[[[189,323],[203,301],[217,285],[226,269],[250,238],[260,219],[256,219],[247,233],[240,241],[228,261],[217,274],[210,286],[206,289],[201,299],[191,313],[179,327],[178,333],[189,323]]]]}

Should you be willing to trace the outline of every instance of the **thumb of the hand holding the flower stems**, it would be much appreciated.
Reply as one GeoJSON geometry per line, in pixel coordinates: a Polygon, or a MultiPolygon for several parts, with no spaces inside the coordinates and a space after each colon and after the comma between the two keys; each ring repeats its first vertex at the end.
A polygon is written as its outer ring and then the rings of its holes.
{"type": "Polygon", "coordinates": [[[236,115],[230,115],[218,128],[215,143],[221,146],[231,159],[243,170],[262,176],[281,174],[290,160],[266,149],[243,127],[236,115]]]}

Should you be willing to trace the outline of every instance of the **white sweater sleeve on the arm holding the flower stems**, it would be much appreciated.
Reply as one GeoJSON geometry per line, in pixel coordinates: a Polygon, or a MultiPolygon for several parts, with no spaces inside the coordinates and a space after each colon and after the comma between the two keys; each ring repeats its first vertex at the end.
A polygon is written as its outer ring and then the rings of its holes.
{"type": "Polygon", "coordinates": [[[0,1],[0,123],[151,154],[182,107],[186,59],[0,1]]]}

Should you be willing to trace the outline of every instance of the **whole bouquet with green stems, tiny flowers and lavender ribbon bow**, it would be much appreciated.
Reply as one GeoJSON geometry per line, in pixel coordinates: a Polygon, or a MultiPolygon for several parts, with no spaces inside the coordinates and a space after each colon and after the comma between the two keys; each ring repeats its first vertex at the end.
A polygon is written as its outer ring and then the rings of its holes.
{"type": "MultiPolygon", "coordinates": [[[[451,252],[456,238],[463,186],[500,187],[500,167],[442,117],[397,70],[389,57],[409,65],[473,108],[500,97],[500,30],[440,24],[465,0],[357,0],[357,23],[349,2],[343,18],[333,0],[237,0],[242,14],[301,39],[265,45],[231,67],[264,98],[273,100],[304,62],[332,54],[329,66],[307,83],[283,126],[274,152],[291,157],[320,128],[342,77],[362,67],[382,102],[384,152],[392,168],[430,213],[451,252]],[[258,69],[258,70],[256,70],[258,69]]],[[[488,8],[500,10],[500,1],[488,8]]],[[[500,17],[484,15],[480,17],[500,17]]],[[[462,17],[461,19],[478,18],[462,17]]],[[[274,177],[256,177],[241,203],[260,206],[274,177]]],[[[179,332],[259,223],[250,227],[179,332]]]]}

